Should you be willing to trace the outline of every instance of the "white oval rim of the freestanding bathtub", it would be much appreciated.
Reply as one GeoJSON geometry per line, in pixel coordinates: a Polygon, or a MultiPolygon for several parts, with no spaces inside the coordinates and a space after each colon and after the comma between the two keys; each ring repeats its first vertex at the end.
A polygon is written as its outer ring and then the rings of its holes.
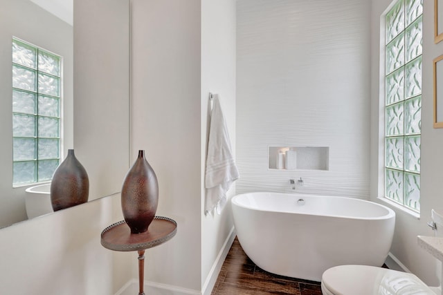
{"type": "Polygon", "coordinates": [[[305,215],[305,216],[325,216],[328,218],[345,218],[345,219],[358,219],[358,220],[386,220],[386,219],[390,219],[390,218],[395,218],[395,211],[390,209],[389,207],[383,205],[383,204],[379,204],[378,202],[373,202],[370,200],[362,200],[359,198],[352,198],[352,197],[342,197],[342,196],[328,196],[328,195],[318,195],[315,193],[279,193],[279,192],[273,192],[273,191],[254,191],[254,192],[249,192],[249,193],[239,193],[235,196],[233,196],[233,198],[230,199],[231,202],[231,206],[237,206],[237,207],[241,207],[244,209],[248,209],[248,210],[253,210],[253,211],[260,211],[260,212],[271,212],[271,213],[289,213],[289,214],[300,214],[300,215],[305,215]],[[382,207],[384,209],[386,209],[386,211],[388,211],[388,213],[386,215],[383,216],[371,216],[371,217],[361,217],[361,216],[341,216],[341,215],[325,215],[325,214],[316,214],[314,212],[309,212],[309,213],[305,213],[305,212],[291,212],[291,211],[275,211],[275,210],[266,210],[266,209],[259,209],[259,208],[252,208],[252,207],[248,207],[244,204],[239,204],[239,202],[237,202],[237,199],[240,198],[241,196],[245,196],[245,195],[252,195],[252,194],[276,194],[276,195],[284,195],[284,196],[300,196],[300,197],[311,197],[311,198],[318,198],[318,197],[323,197],[323,198],[337,198],[337,199],[345,199],[345,200],[356,200],[357,202],[365,202],[365,203],[370,203],[372,205],[376,205],[379,207],[382,207]]]}

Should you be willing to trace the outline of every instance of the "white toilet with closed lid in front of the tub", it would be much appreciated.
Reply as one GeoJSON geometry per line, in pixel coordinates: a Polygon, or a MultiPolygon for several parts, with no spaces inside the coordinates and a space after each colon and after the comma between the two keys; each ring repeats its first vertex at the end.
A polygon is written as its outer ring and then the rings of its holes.
{"type": "Polygon", "coordinates": [[[340,265],[321,279],[323,295],[438,294],[414,274],[368,265],[340,265]]]}

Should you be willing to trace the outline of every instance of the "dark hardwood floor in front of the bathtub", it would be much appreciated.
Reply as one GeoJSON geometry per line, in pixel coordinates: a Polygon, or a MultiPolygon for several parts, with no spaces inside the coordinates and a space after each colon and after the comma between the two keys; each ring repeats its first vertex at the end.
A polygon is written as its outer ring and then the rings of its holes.
{"type": "Polygon", "coordinates": [[[321,289],[319,282],[265,272],[244,254],[235,238],[212,292],[212,295],[225,294],[321,295],[321,289]]]}

